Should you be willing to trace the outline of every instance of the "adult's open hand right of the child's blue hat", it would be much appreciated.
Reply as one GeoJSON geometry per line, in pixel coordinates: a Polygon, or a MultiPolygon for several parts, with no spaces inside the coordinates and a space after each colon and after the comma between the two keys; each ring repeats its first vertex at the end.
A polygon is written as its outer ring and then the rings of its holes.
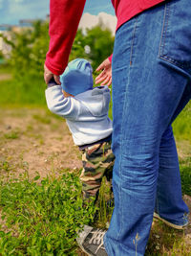
{"type": "Polygon", "coordinates": [[[96,83],[102,81],[101,85],[111,85],[112,84],[112,63],[109,58],[106,58],[97,68],[96,71],[101,71],[101,73],[96,77],[96,83]],[[101,71],[102,70],[102,71],[101,71]]]}

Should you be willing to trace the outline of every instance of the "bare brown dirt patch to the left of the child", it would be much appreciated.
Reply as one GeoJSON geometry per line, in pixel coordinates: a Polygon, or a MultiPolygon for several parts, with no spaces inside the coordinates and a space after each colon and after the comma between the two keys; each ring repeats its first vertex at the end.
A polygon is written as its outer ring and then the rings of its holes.
{"type": "Polygon", "coordinates": [[[46,109],[1,109],[0,134],[4,174],[28,171],[31,177],[36,172],[44,177],[66,168],[81,168],[66,123],[46,109]]]}

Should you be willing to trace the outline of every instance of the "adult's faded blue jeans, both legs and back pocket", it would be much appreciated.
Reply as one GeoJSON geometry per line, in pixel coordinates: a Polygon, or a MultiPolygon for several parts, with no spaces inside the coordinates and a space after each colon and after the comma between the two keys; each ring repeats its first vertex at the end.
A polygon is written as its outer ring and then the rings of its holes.
{"type": "Polygon", "coordinates": [[[191,98],[191,5],[174,0],[118,30],[113,55],[115,209],[109,256],[144,255],[153,213],[185,223],[171,124],[191,98]]]}

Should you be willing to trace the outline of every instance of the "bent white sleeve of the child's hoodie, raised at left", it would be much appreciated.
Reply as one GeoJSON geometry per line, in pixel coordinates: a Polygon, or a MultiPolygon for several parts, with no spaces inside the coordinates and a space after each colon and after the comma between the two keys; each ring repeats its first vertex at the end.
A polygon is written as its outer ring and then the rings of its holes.
{"type": "Polygon", "coordinates": [[[80,104],[73,97],[64,98],[62,87],[55,85],[45,91],[48,108],[56,115],[75,120],[79,114],[80,104]]]}

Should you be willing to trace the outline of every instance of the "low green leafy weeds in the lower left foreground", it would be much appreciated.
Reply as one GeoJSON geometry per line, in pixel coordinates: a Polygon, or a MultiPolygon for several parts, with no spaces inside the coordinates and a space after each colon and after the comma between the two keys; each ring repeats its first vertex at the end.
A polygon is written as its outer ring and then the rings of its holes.
{"type": "Polygon", "coordinates": [[[39,178],[1,182],[2,256],[74,255],[76,232],[93,220],[94,207],[82,207],[77,175],[39,178]]]}

